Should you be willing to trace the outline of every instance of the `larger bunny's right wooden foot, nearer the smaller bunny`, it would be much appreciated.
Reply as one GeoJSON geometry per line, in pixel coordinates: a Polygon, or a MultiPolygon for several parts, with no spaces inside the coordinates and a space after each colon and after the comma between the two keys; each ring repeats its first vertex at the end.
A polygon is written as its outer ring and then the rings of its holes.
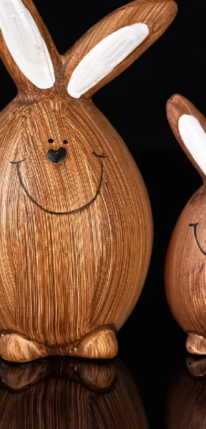
{"type": "Polygon", "coordinates": [[[118,353],[116,333],[111,327],[103,327],[86,335],[71,351],[73,356],[90,359],[112,359],[118,353]]]}

